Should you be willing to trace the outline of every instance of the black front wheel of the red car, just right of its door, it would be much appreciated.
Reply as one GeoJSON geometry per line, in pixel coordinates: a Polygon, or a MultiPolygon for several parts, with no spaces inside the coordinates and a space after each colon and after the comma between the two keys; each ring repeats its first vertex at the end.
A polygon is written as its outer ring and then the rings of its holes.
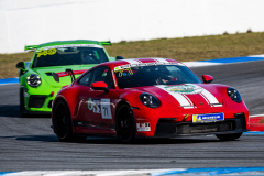
{"type": "Polygon", "coordinates": [[[118,138],[123,143],[133,143],[135,140],[135,120],[129,105],[119,106],[116,116],[116,130],[118,138]]]}

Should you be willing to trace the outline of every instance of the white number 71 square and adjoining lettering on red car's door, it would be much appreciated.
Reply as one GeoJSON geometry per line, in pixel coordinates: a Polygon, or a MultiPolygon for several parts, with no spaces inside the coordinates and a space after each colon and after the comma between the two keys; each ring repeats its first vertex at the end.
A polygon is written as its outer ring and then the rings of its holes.
{"type": "Polygon", "coordinates": [[[101,113],[102,119],[112,119],[110,99],[88,99],[88,109],[94,113],[101,113]]]}

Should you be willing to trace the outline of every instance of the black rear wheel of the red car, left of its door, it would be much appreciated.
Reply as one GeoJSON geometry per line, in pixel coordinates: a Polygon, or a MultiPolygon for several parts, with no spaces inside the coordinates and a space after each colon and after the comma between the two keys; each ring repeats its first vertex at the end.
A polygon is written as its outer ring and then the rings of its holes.
{"type": "Polygon", "coordinates": [[[58,100],[54,106],[53,125],[61,142],[82,142],[87,138],[74,135],[69,109],[63,100],[58,100]]]}

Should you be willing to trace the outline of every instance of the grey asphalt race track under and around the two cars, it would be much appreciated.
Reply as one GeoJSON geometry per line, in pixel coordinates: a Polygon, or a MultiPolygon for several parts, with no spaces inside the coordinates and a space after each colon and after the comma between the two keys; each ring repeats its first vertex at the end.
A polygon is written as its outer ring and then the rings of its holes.
{"type": "MultiPolygon", "coordinates": [[[[264,113],[264,61],[193,68],[240,90],[250,114],[264,113]]],[[[0,85],[0,172],[264,166],[264,136],[221,142],[213,135],[170,140],[88,138],[62,143],[51,117],[21,118],[19,85],[0,85]]]]}

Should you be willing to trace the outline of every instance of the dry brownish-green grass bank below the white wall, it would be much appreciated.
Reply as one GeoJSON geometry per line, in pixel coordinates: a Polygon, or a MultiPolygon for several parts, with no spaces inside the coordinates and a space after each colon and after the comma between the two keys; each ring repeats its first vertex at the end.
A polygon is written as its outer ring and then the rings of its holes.
{"type": "MultiPolygon", "coordinates": [[[[113,43],[110,56],[165,57],[180,62],[264,54],[264,32],[113,43]]],[[[18,77],[15,64],[33,53],[0,54],[0,78],[18,77]]]]}

